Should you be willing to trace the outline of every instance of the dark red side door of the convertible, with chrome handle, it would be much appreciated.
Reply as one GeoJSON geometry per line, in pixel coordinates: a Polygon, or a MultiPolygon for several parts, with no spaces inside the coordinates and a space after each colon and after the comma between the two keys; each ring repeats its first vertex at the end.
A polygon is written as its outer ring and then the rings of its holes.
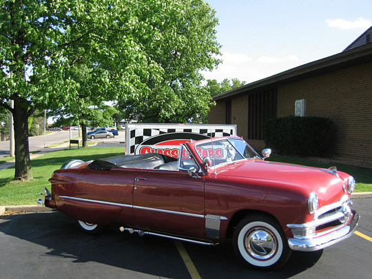
{"type": "Polygon", "coordinates": [[[203,238],[204,179],[192,178],[187,171],[138,170],[133,209],[137,227],[203,238]]]}

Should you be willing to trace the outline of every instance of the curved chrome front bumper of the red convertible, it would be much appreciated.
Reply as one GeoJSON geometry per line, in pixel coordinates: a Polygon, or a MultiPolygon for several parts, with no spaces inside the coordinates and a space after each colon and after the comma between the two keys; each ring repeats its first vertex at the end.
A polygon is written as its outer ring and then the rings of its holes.
{"type": "Polygon", "coordinates": [[[358,226],[359,214],[353,211],[353,218],[351,218],[349,224],[331,231],[329,234],[318,236],[316,238],[299,239],[289,238],[289,248],[296,251],[316,251],[329,247],[341,240],[344,240],[351,236],[358,226]]]}

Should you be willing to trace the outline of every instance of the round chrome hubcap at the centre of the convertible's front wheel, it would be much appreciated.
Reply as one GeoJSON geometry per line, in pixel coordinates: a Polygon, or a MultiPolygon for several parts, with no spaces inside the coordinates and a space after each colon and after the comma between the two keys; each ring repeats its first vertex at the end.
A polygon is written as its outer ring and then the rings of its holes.
{"type": "Polygon", "coordinates": [[[249,231],[245,236],[245,249],[258,260],[267,260],[276,253],[276,237],[267,229],[260,227],[249,231]]]}

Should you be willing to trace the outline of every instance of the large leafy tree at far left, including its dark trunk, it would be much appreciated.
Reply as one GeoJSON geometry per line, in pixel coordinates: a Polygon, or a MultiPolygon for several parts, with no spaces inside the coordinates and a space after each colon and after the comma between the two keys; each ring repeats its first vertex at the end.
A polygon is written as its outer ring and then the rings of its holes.
{"type": "MultiPolygon", "coordinates": [[[[152,2],[161,6],[161,1],[152,2]]],[[[32,178],[28,117],[34,110],[69,107],[85,98],[80,84],[68,76],[74,65],[99,71],[101,99],[139,96],[149,92],[144,81],[160,81],[161,66],[134,40],[139,33],[150,34],[150,26],[132,12],[137,3],[0,1],[0,106],[14,116],[14,179],[32,178]]]]}

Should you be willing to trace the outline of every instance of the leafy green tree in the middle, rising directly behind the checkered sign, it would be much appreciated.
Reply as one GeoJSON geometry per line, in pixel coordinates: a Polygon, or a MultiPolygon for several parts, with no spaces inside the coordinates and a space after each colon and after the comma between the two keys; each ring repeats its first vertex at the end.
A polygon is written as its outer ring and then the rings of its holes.
{"type": "MultiPolygon", "coordinates": [[[[161,65],[161,80],[147,79],[149,91],[118,100],[127,116],[151,123],[185,123],[206,115],[211,97],[201,86],[200,70],[212,70],[220,45],[216,41],[215,11],[202,0],[147,1],[136,17],[151,26],[149,34],[136,30],[135,38],[147,56],[161,65]]],[[[141,5],[141,4],[139,4],[141,5]]]]}

